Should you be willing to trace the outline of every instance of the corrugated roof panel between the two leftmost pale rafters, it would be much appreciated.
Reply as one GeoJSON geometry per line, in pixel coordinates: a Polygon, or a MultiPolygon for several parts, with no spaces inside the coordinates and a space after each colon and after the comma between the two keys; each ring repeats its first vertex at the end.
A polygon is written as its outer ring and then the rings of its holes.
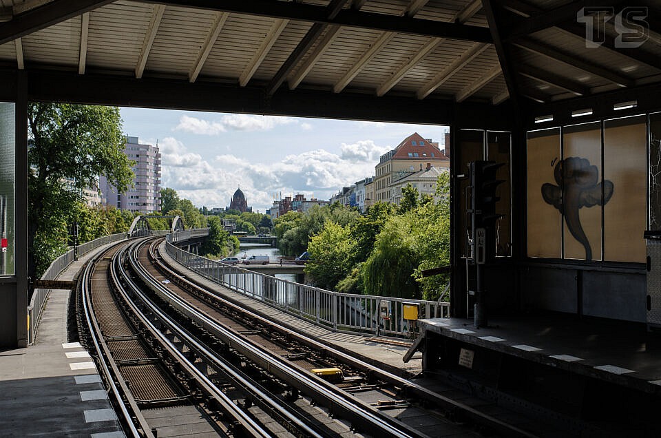
{"type": "Polygon", "coordinates": [[[80,50],[81,17],[23,36],[26,64],[78,65],[80,50]]]}

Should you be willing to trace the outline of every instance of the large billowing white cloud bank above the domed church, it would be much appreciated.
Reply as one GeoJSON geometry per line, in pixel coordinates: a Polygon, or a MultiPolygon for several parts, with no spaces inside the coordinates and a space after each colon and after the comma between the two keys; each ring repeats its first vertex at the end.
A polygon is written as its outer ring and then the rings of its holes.
{"type": "Polygon", "coordinates": [[[308,199],[327,200],[341,187],[371,176],[379,155],[389,150],[372,140],[361,140],[343,144],[339,155],[315,149],[274,163],[258,163],[232,154],[204,159],[174,138],[164,139],[162,144],[162,187],[171,187],[181,198],[209,208],[229,205],[240,187],[255,211],[271,207],[274,194],[302,193],[308,199]]]}

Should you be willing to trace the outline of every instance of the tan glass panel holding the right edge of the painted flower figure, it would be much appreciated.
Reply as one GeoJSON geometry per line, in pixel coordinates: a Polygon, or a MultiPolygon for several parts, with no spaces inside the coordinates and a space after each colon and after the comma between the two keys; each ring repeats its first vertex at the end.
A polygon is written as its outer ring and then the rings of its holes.
{"type": "Polygon", "coordinates": [[[607,181],[613,185],[613,195],[604,205],[604,260],[645,261],[646,136],[645,116],[604,123],[605,191],[607,181]]]}

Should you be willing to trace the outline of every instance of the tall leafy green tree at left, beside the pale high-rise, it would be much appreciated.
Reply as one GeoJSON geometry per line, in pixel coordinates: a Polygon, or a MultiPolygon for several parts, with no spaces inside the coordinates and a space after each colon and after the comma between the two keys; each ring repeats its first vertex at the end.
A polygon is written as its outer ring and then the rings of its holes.
{"type": "Polygon", "coordinates": [[[105,175],[124,192],[133,173],[117,107],[30,103],[28,124],[28,275],[39,278],[63,249],[81,191],[105,175]]]}

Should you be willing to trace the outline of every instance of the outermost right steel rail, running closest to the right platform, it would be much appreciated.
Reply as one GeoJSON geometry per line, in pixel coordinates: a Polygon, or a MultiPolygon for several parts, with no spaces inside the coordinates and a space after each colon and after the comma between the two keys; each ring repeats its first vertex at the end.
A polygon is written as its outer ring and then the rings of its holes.
{"type": "Polygon", "coordinates": [[[420,399],[433,401],[434,404],[437,404],[437,406],[442,406],[443,408],[459,411],[463,413],[463,415],[465,415],[467,419],[470,419],[471,421],[475,421],[476,423],[481,424],[483,426],[492,428],[494,431],[501,432],[504,435],[512,436],[512,437],[525,437],[525,438],[536,437],[536,435],[527,432],[526,430],[507,424],[504,421],[496,419],[491,415],[482,413],[479,410],[476,410],[475,408],[465,405],[457,400],[453,400],[441,394],[434,393],[432,390],[429,390],[428,388],[415,384],[415,382],[411,382],[410,380],[404,379],[403,377],[399,377],[398,375],[385,371],[381,368],[377,368],[376,366],[373,366],[372,364],[369,364],[368,362],[365,362],[353,355],[348,355],[347,353],[343,353],[342,351],[337,350],[337,347],[333,346],[332,344],[319,342],[318,340],[306,336],[304,333],[300,333],[300,331],[295,331],[292,328],[289,328],[288,326],[285,326],[278,322],[274,322],[273,320],[269,320],[268,318],[260,315],[259,313],[255,313],[249,309],[246,309],[243,306],[238,306],[236,303],[232,302],[231,300],[222,298],[216,293],[204,289],[204,287],[200,286],[199,284],[196,284],[196,282],[193,282],[188,278],[185,278],[184,276],[180,275],[179,273],[168,267],[165,264],[165,262],[162,262],[162,259],[158,260],[158,258],[154,257],[153,260],[158,264],[158,266],[162,267],[162,269],[168,272],[167,275],[171,275],[173,278],[177,278],[178,281],[187,284],[191,288],[197,289],[198,291],[204,293],[204,295],[207,295],[209,298],[218,300],[219,302],[222,302],[222,304],[229,306],[233,309],[238,309],[238,311],[244,313],[245,315],[249,315],[249,317],[254,318],[258,322],[261,322],[262,324],[273,326],[277,328],[278,331],[281,331],[281,333],[291,336],[293,339],[301,342],[302,344],[306,344],[315,349],[323,349],[335,359],[339,359],[341,362],[350,364],[351,366],[356,366],[357,368],[368,370],[370,371],[370,373],[373,373],[373,375],[379,379],[382,379],[391,384],[395,384],[397,386],[401,386],[401,388],[403,388],[403,390],[406,390],[408,394],[417,395],[417,397],[420,397],[420,399]],[[332,350],[328,351],[328,348],[332,348],[332,350]]]}

